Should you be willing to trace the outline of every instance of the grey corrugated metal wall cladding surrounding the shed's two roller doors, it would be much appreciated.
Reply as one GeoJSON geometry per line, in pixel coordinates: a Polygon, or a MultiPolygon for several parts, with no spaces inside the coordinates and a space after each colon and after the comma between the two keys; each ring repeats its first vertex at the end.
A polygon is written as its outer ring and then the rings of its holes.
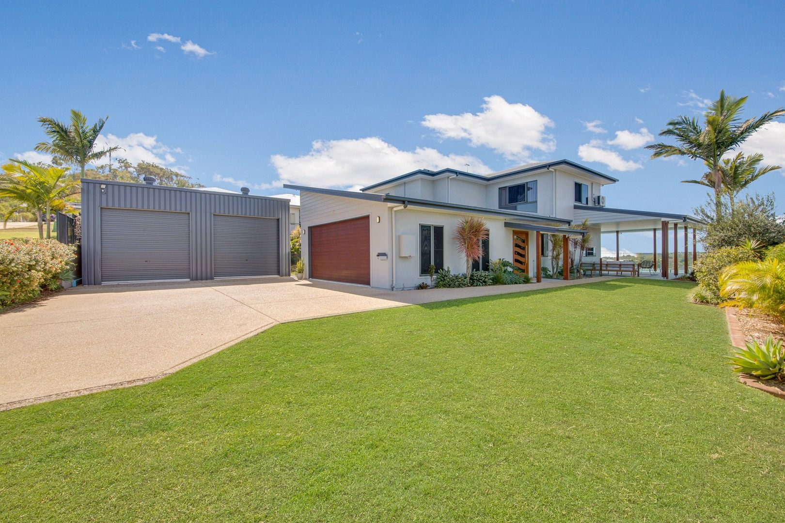
{"type": "Polygon", "coordinates": [[[144,183],[82,180],[82,282],[85,285],[101,283],[101,208],[188,212],[192,280],[214,278],[213,215],[277,218],[280,274],[289,275],[288,200],[144,183]],[[105,186],[103,190],[101,185],[105,186]]]}

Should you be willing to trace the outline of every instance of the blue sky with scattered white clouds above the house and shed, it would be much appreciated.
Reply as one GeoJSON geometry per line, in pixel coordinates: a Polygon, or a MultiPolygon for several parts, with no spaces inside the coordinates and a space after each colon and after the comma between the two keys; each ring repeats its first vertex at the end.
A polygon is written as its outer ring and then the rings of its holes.
{"type": "MultiPolygon", "coordinates": [[[[619,178],[604,191],[609,206],[688,212],[704,191],[679,180],[702,165],[652,161],[642,145],[722,88],[750,96],[750,116],[785,106],[776,2],[3,10],[2,158],[43,139],[38,116],[77,108],[91,121],[108,114],[107,139],[131,160],[257,194],[282,192],[281,181],[356,187],[410,167],[485,172],[570,158],[619,178]]],[[[785,165],[785,122],[750,151],[785,165]]],[[[753,187],[782,194],[785,177],[753,187]]]]}

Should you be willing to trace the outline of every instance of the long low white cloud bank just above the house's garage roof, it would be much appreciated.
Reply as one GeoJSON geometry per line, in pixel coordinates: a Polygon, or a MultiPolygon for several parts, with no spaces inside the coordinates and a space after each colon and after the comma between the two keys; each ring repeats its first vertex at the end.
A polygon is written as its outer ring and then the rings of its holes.
{"type": "MultiPolygon", "coordinates": [[[[273,154],[270,161],[278,172],[279,180],[257,184],[255,188],[281,187],[283,183],[357,188],[415,169],[438,170],[450,167],[469,169],[472,173],[480,174],[491,172],[480,159],[470,155],[442,154],[430,147],[401,151],[378,137],[316,140],[307,154],[295,157],[273,154]],[[467,163],[469,167],[466,167],[467,163]]],[[[216,181],[228,182],[225,179],[216,181]]]]}

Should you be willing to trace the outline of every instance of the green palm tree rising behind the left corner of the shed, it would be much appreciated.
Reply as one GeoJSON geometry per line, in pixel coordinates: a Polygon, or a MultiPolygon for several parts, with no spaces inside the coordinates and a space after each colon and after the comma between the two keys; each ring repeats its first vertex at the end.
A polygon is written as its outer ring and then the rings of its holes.
{"type": "Polygon", "coordinates": [[[113,151],[118,151],[120,147],[109,147],[95,151],[96,140],[100,135],[101,129],[109,117],[99,118],[98,122],[92,127],[87,126],[87,118],[79,111],[71,109],[71,123],[65,125],[54,118],[42,116],[38,122],[44,129],[46,136],[51,142],[41,142],[35,146],[36,151],[52,154],[63,162],[79,165],[82,169],[82,178],[85,177],[85,165],[93,163],[100,158],[104,158],[113,151]]]}

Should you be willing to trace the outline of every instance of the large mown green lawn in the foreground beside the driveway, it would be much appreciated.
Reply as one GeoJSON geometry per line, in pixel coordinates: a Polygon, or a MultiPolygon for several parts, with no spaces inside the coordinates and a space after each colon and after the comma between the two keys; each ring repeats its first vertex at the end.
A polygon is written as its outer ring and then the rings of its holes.
{"type": "MultiPolygon", "coordinates": [[[[0,412],[4,521],[782,521],[785,402],[623,278],[279,325],[0,412]]],[[[422,291],[427,292],[427,291],[422,291]]]]}

